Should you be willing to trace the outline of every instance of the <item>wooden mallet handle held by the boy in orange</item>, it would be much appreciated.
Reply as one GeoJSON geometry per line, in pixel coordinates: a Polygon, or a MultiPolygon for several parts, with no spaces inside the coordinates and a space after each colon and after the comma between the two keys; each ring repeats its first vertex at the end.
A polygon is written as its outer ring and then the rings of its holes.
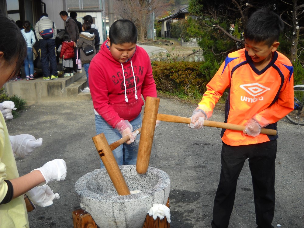
{"type": "MultiPolygon", "coordinates": [[[[174,123],[187,123],[187,124],[191,123],[191,120],[188,117],[172,116],[172,115],[160,114],[160,113],[157,114],[157,120],[166,121],[166,122],[174,122],[174,123]]],[[[218,128],[224,128],[224,129],[236,130],[236,131],[243,131],[245,129],[245,126],[243,126],[243,125],[237,125],[237,124],[232,124],[232,123],[222,123],[222,122],[216,122],[216,121],[210,121],[210,120],[205,120],[204,126],[218,127],[218,128]]],[[[261,134],[277,135],[277,131],[273,130],[273,129],[262,128],[261,134]]]]}

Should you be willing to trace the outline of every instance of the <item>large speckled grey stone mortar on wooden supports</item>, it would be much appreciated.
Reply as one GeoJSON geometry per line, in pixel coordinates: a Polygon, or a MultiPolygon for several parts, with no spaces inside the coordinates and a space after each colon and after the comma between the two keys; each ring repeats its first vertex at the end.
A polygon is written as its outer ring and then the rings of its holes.
{"type": "Polygon", "coordinates": [[[132,195],[118,195],[106,169],[96,169],[76,181],[75,192],[82,209],[100,228],[142,228],[153,204],[166,204],[170,178],[164,171],[149,167],[138,174],[136,165],[119,166],[132,195]]]}

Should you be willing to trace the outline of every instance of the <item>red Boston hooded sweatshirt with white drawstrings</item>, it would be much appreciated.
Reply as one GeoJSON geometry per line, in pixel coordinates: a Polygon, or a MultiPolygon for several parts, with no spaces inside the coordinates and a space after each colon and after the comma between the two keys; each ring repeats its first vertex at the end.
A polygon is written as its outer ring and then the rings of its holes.
{"type": "Polygon", "coordinates": [[[149,55],[136,46],[123,64],[116,61],[106,45],[101,45],[89,67],[89,85],[95,114],[115,128],[121,120],[131,121],[141,112],[143,98],[157,97],[149,55]]]}

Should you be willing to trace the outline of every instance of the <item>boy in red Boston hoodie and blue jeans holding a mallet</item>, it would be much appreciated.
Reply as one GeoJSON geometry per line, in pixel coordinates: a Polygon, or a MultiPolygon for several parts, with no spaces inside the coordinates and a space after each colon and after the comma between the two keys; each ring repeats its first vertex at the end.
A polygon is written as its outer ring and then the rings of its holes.
{"type": "Polygon", "coordinates": [[[104,133],[109,144],[130,136],[113,150],[118,165],[136,164],[139,140],[132,131],[141,127],[141,95],[144,99],[157,96],[149,55],[136,46],[136,40],[134,23],[117,20],[89,67],[96,133],[104,133]]]}

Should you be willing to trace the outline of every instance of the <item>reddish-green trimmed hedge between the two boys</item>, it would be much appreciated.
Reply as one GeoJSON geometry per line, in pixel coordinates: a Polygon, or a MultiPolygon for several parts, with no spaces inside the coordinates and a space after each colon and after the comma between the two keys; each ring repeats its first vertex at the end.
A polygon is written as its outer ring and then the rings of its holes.
{"type": "Polygon", "coordinates": [[[201,99],[206,91],[206,84],[218,68],[216,61],[152,62],[157,90],[185,99],[201,99]]]}

